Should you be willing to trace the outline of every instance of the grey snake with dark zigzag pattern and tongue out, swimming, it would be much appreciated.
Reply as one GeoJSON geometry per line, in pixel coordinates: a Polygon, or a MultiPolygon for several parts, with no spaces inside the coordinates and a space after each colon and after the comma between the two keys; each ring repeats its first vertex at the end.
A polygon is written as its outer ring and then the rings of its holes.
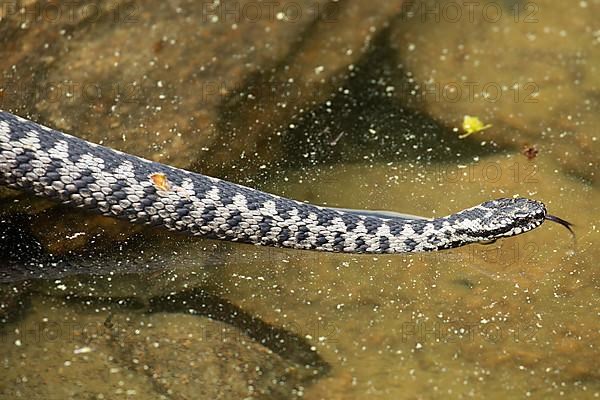
{"type": "MultiPolygon", "coordinates": [[[[523,197],[424,218],[309,204],[127,154],[0,111],[0,185],[193,236],[339,253],[412,253],[571,224],[523,197]]],[[[572,231],[571,231],[572,232],[572,231]]]]}

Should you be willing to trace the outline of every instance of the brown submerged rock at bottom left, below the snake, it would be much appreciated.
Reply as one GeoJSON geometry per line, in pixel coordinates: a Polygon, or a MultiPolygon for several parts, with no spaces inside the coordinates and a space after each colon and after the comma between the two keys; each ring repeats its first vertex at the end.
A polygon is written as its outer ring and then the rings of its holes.
{"type": "Polygon", "coordinates": [[[25,318],[2,327],[2,396],[293,399],[323,373],[325,364],[273,351],[250,337],[248,326],[173,312],[145,315],[143,304],[126,299],[69,303],[36,297],[25,318]],[[120,314],[125,307],[129,313],[120,314]]]}

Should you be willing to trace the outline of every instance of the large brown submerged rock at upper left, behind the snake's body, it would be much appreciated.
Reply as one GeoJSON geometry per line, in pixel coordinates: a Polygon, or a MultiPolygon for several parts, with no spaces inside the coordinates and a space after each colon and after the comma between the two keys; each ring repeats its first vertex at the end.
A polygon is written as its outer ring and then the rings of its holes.
{"type": "MultiPolygon", "coordinates": [[[[0,10],[0,108],[176,167],[255,170],[280,155],[279,128],[336,89],[399,5],[15,3],[0,10]]],[[[55,253],[131,234],[84,213],[49,217],[31,225],[55,253]]]]}

